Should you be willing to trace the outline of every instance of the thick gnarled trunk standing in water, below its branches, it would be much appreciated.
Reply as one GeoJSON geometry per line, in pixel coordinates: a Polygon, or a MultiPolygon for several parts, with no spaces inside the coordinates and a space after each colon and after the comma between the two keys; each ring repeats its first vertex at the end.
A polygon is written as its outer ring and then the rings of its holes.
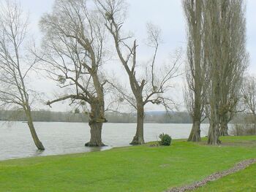
{"type": "Polygon", "coordinates": [[[102,125],[107,122],[104,118],[104,102],[94,101],[91,104],[89,126],[91,128],[91,139],[86,147],[102,147],[102,125]]]}

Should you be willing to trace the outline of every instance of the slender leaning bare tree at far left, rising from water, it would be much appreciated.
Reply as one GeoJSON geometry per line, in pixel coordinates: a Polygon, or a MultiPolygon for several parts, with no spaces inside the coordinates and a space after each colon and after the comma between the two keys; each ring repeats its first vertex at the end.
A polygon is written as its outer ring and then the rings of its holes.
{"type": "Polygon", "coordinates": [[[37,63],[26,58],[28,17],[15,1],[6,1],[0,9],[0,101],[5,107],[21,108],[25,114],[34,144],[45,150],[37,137],[31,118],[34,91],[27,86],[28,74],[37,63]],[[31,62],[30,62],[31,61],[31,62]]]}

